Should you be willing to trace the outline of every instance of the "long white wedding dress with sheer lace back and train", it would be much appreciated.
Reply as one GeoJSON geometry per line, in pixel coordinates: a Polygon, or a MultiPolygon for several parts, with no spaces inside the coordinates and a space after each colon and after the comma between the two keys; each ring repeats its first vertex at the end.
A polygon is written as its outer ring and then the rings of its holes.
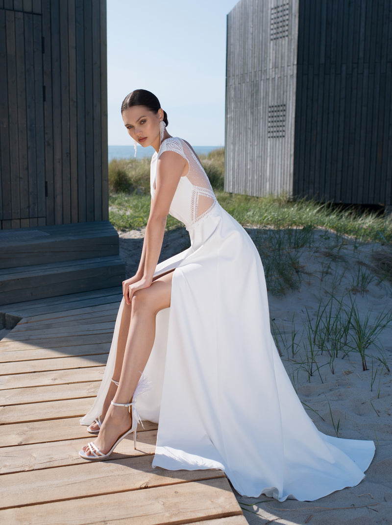
{"type": "MultiPolygon", "coordinates": [[[[314,500],[354,486],[372,461],[372,441],[319,432],[276,350],[264,271],[251,238],[218,204],[187,142],[169,138],[151,160],[174,151],[189,164],[170,214],[191,247],[157,266],[175,269],[171,306],[159,312],[145,374],[151,389],[136,407],[159,422],[154,466],[220,468],[242,495],[314,500]]],[[[102,384],[88,425],[100,415],[114,370],[123,300],[102,384]]]]}

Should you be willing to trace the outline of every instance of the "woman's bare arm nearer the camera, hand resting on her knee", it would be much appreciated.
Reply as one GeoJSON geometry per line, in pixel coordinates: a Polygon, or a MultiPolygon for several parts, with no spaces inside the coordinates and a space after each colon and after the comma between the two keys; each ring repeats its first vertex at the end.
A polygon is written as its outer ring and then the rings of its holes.
{"type": "Polygon", "coordinates": [[[173,151],[163,152],[158,159],[156,190],[151,201],[142,255],[139,269],[136,273],[138,280],[135,281],[132,277],[123,282],[123,293],[127,304],[130,304],[133,293],[151,285],[154,271],[158,264],[170,205],[174,193],[176,193],[180,177],[185,174],[187,167],[187,161],[173,151]]]}

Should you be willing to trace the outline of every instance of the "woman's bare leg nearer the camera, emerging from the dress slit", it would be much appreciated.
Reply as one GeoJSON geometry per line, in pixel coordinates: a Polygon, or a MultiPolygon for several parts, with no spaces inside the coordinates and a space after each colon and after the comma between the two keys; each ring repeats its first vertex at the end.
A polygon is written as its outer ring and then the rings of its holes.
{"type": "MultiPolygon", "coordinates": [[[[120,382],[113,399],[115,403],[129,403],[135,392],[154,343],[157,313],[170,306],[172,276],[173,272],[170,272],[158,277],[149,288],[138,290],[132,298],[120,382]]],[[[106,454],[117,438],[130,426],[128,408],[109,404],[94,444],[106,454]]],[[[85,446],[83,449],[89,454],[88,447],[85,446]]]]}

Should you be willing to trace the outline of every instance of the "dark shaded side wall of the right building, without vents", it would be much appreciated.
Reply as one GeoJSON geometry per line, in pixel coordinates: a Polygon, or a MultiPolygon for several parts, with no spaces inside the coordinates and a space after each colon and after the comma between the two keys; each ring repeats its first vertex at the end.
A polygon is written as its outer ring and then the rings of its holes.
{"type": "Polygon", "coordinates": [[[392,2],[301,0],[294,195],[392,204],[392,2]]]}

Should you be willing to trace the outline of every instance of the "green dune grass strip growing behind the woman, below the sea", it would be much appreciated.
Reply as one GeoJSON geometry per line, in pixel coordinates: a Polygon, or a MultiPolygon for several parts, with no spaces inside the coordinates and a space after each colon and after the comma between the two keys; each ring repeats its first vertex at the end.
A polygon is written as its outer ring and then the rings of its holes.
{"type": "MultiPolygon", "coordinates": [[[[358,212],[355,208],[320,204],[285,195],[251,197],[223,191],[224,149],[200,156],[218,201],[243,226],[331,229],[358,240],[392,242],[392,216],[358,212]]],[[[149,213],[148,159],[114,159],[109,164],[110,220],[118,229],[145,226],[149,213]]],[[[168,228],[178,226],[169,220],[168,228]]]]}

